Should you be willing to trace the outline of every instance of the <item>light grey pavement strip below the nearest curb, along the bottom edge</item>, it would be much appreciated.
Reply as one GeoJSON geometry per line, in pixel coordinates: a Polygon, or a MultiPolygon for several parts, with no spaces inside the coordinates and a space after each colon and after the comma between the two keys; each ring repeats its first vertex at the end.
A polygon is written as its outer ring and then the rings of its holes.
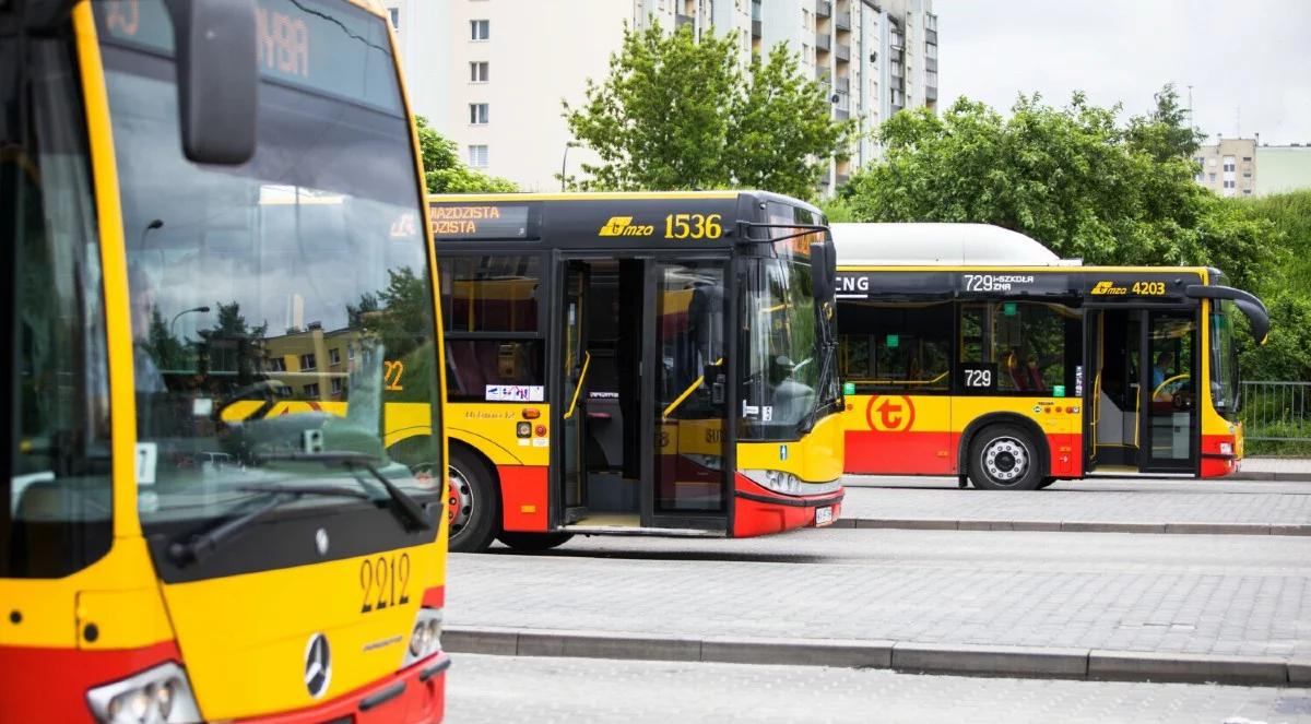
{"type": "Polygon", "coordinates": [[[446,721],[1311,721],[1311,690],[456,654],[446,721]]]}

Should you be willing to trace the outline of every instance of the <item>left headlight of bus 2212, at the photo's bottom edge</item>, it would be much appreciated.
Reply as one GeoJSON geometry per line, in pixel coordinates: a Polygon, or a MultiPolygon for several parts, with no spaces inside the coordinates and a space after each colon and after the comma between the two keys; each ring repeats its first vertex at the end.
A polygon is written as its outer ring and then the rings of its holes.
{"type": "Polygon", "coordinates": [[[97,686],[87,693],[87,703],[96,719],[105,724],[201,721],[186,672],[172,661],[97,686]]]}

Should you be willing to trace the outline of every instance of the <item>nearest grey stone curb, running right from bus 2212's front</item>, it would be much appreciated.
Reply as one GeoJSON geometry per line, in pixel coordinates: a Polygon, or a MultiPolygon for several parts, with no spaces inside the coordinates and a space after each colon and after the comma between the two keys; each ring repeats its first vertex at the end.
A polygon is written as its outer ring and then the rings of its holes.
{"type": "Polygon", "coordinates": [[[1213,682],[1306,686],[1311,661],[1261,656],[1210,656],[1088,648],[939,644],[857,639],[739,639],[597,634],[535,628],[447,627],[448,653],[562,656],[642,661],[697,661],[784,666],[894,669],[973,674],[1142,682],[1213,682]]]}

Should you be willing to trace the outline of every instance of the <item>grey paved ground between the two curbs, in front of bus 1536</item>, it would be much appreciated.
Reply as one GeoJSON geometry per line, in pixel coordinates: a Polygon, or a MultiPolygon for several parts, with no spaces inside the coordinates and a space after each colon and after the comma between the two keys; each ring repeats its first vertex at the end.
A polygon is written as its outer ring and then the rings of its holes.
{"type": "Polygon", "coordinates": [[[1308,576],[1304,538],[860,529],[594,538],[556,555],[452,555],[447,623],[1307,661],[1308,576]]]}

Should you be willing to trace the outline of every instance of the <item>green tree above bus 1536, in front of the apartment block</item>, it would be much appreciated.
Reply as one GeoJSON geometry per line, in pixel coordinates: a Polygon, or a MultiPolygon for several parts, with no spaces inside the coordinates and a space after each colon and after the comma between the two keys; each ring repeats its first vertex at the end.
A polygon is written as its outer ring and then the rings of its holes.
{"type": "Polygon", "coordinates": [[[590,190],[759,186],[810,198],[827,159],[846,150],[852,125],[830,118],[825,93],[785,46],[747,68],[734,35],[690,28],[624,29],[602,81],[585,101],[564,101],[574,139],[597,153],[590,190]]]}

